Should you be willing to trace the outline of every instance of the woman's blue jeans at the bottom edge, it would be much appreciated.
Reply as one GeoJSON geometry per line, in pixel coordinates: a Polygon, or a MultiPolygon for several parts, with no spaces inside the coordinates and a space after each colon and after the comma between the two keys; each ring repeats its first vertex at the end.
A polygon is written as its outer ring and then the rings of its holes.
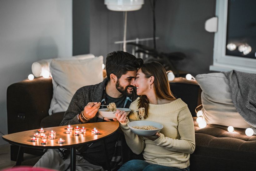
{"type": "Polygon", "coordinates": [[[143,160],[130,160],[123,164],[120,171],[189,171],[189,167],[184,169],[179,168],[173,168],[168,166],[162,166],[159,164],[149,164],[148,162],[145,162],[143,160]]]}

